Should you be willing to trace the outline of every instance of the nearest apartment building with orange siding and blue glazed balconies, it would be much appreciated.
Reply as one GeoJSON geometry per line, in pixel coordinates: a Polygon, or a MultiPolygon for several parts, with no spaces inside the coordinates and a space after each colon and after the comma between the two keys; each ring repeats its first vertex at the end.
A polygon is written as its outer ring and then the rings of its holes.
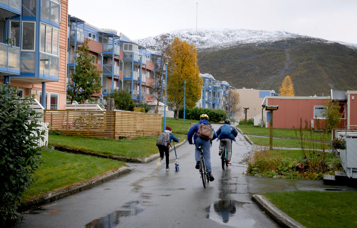
{"type": "Polygon", "coordinates": [[[0,83],[18,87],[20,97],[35,94],[45,109],[65,107],[67,6],[67,0],[0,1],[0,83]]]}

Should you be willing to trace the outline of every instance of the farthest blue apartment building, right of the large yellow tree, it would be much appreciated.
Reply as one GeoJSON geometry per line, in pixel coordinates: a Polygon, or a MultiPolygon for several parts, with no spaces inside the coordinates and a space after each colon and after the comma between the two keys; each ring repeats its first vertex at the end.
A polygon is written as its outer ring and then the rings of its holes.
{"type": "Polygon", "coordinates": [[[202,96],[197,102],[196,107],[223,109],[225,105],[226,95],[231,87],[226,81],[218,81],[211,74],[200,74],[203,80],[202,96]]]}

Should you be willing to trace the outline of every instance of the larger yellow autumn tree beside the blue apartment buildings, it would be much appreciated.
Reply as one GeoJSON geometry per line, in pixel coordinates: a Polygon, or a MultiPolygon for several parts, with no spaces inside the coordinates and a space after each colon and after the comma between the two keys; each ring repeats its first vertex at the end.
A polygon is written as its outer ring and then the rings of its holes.
{"type": "Polygon", "coordinates": [[[172,58],[167,68],[167,97],[169,102],[176,105],[176,119],[178,111],[184,102],[184,80],[186,81],[186,105],[194,107],[201,98],[202,79],[197,64],[197,49],[186,41],[175,37],[167,54],[172,58]]]}

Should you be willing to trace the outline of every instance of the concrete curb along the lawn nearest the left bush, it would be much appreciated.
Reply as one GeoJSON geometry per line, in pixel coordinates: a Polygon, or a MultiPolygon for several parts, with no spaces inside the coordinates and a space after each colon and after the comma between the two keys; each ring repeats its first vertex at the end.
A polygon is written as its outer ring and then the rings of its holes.
{"type": "Polygon", "coordinates": [[[105,173],[104,175],[101,175],[99,177],[95,177],[91,180],[85,181],[78,183],[77,185],[62,188],[57,191],[49,192],[44,195],[40,195],[37,197],[34,197],[30,199],[29,201],[22,202],[17,204],[17,212],[25,212],[29,211],[31,209],[37,208],[43,204],[47,204],[53,201],[56,201],[57,199],[64,198],[66,196],[73,195],[75,193],[96,187],[102,183],[111,181],[121,175],[124,175],[128,172],[130,172],[131,169],[127,166],[120,167],[117,170],[111,171],[109,173],[105,173]]]}

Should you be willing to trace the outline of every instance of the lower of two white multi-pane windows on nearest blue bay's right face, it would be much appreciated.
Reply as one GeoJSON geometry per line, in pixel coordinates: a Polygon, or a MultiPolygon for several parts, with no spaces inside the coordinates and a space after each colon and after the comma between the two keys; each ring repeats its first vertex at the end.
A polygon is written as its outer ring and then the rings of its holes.
{"type": "Polygon", "coordinates": [[[58,29],[49,25],[41,24],[40,34],[40,51],[58,56],[58,29]]]}

